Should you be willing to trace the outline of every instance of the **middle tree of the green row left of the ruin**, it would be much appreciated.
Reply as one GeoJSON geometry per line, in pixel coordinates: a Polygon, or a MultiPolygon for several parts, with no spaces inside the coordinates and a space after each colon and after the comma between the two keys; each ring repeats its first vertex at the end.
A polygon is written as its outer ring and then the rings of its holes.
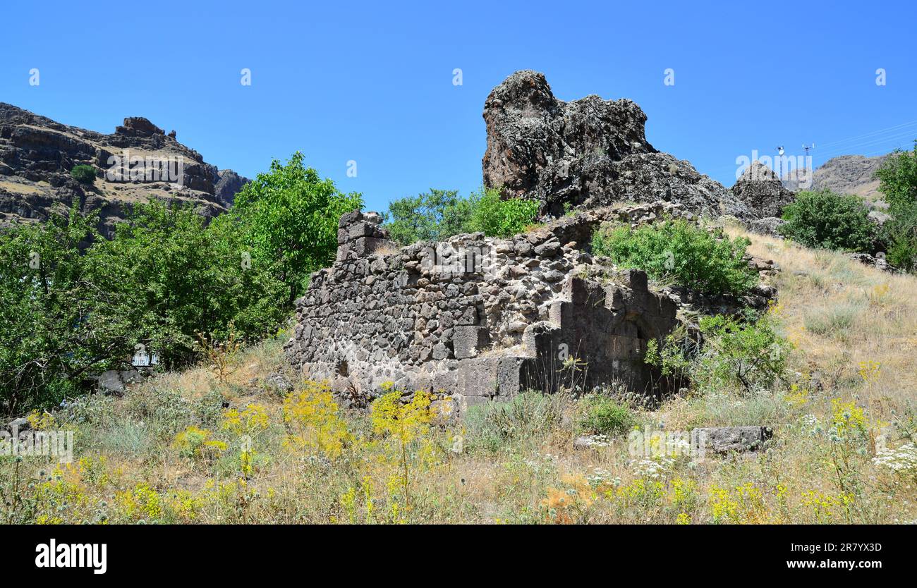
{"type": "Polygon", "coordinates": [[[199,332],[221,336],[233,323],[253,339],[286,317],[284,284],[271,264],[249,254],[231,221],[206,226],[191,208],[154,201],[86,254],[88,271],[109,281],[109,312],[164,365],[192,361],[199,332]]]}

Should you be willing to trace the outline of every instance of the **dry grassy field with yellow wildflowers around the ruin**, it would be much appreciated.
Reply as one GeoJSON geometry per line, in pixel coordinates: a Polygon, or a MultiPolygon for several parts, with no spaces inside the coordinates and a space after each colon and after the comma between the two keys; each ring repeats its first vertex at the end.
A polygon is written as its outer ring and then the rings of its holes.
{"type": "Polygon", "coordinates": [[[794,347],[770,389],[691,388],[654,409],[528,393],[460,422],[420,397],[370,415],[340,410],[315,383],[274,387],[278,339],[239,352],[223,377],[201,365],[33,415],[36,428],[73,430],[74,461],[0,458],[0,514],[10,523],[917,521],[917,278],[749,236],[751,253],[782,268],[770,314],[794,347]],[[608,438],[574,449],[597,421],[608,438]],[[634,429],[758,424],[774,429],[764,452],[635,456],[628,442],[634,429]]]}

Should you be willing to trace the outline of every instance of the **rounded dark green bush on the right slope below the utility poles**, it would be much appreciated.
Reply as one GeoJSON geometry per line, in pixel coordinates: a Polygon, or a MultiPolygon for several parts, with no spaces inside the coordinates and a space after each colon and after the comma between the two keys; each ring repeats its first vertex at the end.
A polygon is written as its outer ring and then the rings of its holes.
{"type": "Polygon", "coordinates": [[[783,209],[780,234],[808,247],[871,253],[876,223],[863,200],[830,190],[801,191],[783,209]]]}

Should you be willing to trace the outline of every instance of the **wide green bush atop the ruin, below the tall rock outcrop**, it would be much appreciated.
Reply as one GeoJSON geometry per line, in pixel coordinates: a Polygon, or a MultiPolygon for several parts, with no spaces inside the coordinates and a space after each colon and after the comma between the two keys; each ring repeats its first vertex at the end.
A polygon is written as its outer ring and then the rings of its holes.
{"type": "Polygon", "coordinates": [[[592,235],[593,254],[706,294],[744,294],[757,284],[757,273],[743,259],[749,244],[680,219],[637,228],[603,225],[592,235]]]}

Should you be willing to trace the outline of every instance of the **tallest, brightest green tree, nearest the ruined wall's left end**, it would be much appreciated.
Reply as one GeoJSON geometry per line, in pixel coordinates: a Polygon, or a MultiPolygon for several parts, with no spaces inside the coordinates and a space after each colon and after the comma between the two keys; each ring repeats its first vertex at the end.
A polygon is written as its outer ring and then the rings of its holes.
{"type": "Polygon", "coordinates": [[[270,260],[286,284],[289,307],[306,289],[309,275],[334,261],[340,216],[362,204],[359,193],[344,194],[333,181],[305,168],[297,151],[286,165],[275,159],[271,171],[246,184],[232,214],[252,256],[270,260]]]}

